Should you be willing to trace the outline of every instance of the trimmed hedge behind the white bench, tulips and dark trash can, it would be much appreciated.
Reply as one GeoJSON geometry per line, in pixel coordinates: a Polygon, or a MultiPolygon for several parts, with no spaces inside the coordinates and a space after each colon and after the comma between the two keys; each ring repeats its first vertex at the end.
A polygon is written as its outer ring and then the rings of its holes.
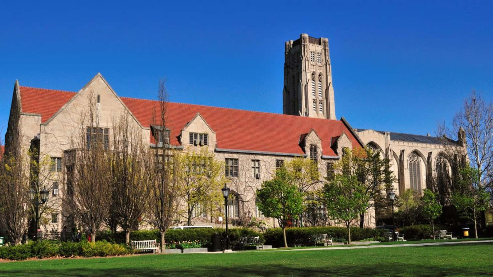
{"type": "MultiPolygon", "coordinates": [[[[241,237],[262,237],[262,234],[249,228],[231,228],[228,229],[230,241],[236,241],[241,237]]],[[[169,229],[166,231],[165,240],[166,243],[179,243],[184,241],[200,241],[203,247],[208,247],[211,244],[211,237],[214,233],[223,234],[226,232],[222,228],[189,228],[189,229],[169,229]]],[[[106,240],[108,242],[125,243],[125,233],[117,232],[111,234],[110,232],[100,232],[96,235],[96,240],[106,240]]],[[[133,231],[130,233],[131,241],[149,241],[156,240],[161,241],[161,233],[157,230],[142,230],[133,231]]]]}

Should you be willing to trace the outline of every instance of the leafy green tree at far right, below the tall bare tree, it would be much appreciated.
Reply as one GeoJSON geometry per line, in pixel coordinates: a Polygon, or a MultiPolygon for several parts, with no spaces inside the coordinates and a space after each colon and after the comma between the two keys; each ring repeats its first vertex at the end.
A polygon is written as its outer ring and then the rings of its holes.
{"type": "Polygon", "coordinates": [[[460,175],[460,190],[452,195],[452,204],[461,217],[474,222],[474,235],[478,238],[478,215],[487,208],[490,195],[480,184],[481,174],[478,169],[466,167],[460,175]]]}

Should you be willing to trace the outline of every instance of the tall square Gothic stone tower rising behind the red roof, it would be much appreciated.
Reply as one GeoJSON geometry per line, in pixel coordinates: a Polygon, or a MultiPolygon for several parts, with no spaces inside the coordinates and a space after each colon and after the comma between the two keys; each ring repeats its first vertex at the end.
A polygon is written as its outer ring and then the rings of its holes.
{"type": "Polygon", "coordinates": [[[336,119],[329,40],[301,34],[284,45],[283,113],[336,119]]]}

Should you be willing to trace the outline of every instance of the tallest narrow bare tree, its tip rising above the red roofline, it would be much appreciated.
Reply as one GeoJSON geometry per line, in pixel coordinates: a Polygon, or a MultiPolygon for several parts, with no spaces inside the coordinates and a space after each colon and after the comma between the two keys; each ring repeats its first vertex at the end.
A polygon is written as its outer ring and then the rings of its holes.
{"type": "Polygon", "coordinates": [[[146,191],[149,194],[147,218],[161,233],[162,253],[166,247],[165,232],[174,222],[178,193],[176,155],[171,151],[170,137],[166,129],[167,99],[165,82],[161,79],[158,85],[159,106],[153,112],[156,143],[148,152],[144,163],[146,191]]]}

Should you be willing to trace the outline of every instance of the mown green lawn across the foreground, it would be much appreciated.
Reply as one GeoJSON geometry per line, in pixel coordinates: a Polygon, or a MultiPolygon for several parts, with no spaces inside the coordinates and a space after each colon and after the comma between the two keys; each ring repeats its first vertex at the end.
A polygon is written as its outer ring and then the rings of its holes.
{"type": "Polygon", "coordinates": [[[493,274],[493,243],[0,263],[0,276],[444,276],[493,274]]]}

